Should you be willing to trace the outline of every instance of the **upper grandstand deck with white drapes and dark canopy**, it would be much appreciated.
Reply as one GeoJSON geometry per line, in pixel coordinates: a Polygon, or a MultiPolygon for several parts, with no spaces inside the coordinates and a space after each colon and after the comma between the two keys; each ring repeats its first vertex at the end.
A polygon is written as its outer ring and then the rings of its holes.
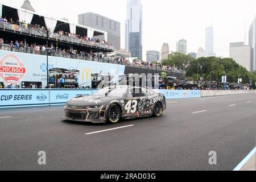
{"type": "Polygon", "coordinates": [[[0,38],[5,43],[18,40],[23,41],[25,45],[26,43],[46,45],[49,31],[48,47],[52,45],[85,52],[113,52],[113,47],[107,42],[108,32],[72,24],[65,20],[48,18],[33,11],[6,5],[0,5],[0,8],[2,8],[0,38]],[[104,35],[105,40],[94,38],[100,35],[104,35]]]}

